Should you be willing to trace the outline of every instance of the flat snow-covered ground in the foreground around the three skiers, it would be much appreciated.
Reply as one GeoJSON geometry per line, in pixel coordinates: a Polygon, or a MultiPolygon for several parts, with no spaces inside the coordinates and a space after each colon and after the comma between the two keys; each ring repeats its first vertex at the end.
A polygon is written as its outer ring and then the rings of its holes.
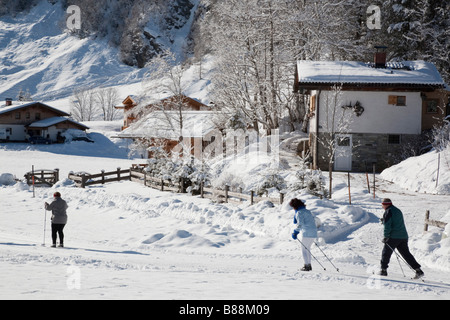
{"type": "MultiPolygon", "coordinates": [[[[100,124],[91,124],[93,131],[110,135],[106,131],[111,128],[100,124]]],[[[318,243],[339,268],[313,247],[326,270],[313,260],[313,271],[305,273],[299,270],[300,244],[290,237],[293,211],[286,202],[217,204],[128,181],[76,188],[66,179],[69,171],[97,173],[137,162],[102,134],[93,136],[94,144],[0,146],[0,175],[21,178],[31,165],[61,170],[61,181],[36,188],[34,197],[22,182],[8,185],[3,179],[0,185],[1,299],[450,298],[450,238],[442,238],[435,227],[423,234],[426,210],[432,219],[449,220],[448,193],[407,190],[406,182],[388,182],[384,173],[385,180],[377,176],[374,199],[366,176],[352,174],[349,205],[347,175],[335,173],[332,200],[296,194],[320,219],[318,243]],[[49,248],[48,213],[42,246],[43,204],[55,191],[70,207],[66,248],[49,248]],[[413,272],[403,264],[404,277],[394,256],[388,277],[372,274],[382,249],[378,218],[383,197],[404,212],[410,248],[423,266],[425,282],[410,280],[413,272]]],[[[256,179],[254,173],[242,174],[244,180],[256,179]]]]}

